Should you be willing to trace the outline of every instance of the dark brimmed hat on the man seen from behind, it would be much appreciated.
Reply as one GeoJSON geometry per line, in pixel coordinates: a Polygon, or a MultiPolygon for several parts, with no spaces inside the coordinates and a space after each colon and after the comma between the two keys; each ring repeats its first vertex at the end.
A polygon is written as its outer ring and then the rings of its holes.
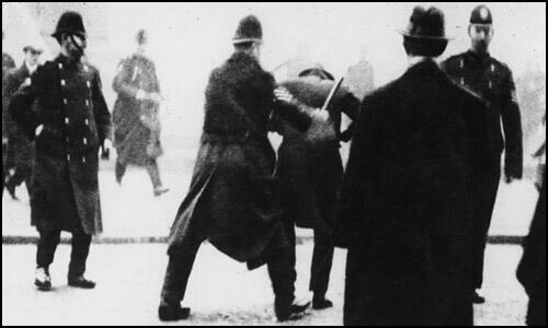
{"type": "Polygon", "coordinates": [[[427,10],[420,5],[415,7],[407,30],[400,31],[400,33],[406,37],[419,39],[449,39],[445,35],[444,13],[435,7],[427,10]]]}

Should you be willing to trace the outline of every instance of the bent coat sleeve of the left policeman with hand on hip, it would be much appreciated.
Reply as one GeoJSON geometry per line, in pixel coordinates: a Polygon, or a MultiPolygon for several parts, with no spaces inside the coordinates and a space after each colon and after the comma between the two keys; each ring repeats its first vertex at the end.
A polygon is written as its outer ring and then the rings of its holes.
{"type": "Polygon", "coordinates": [[[30,140],[35,139],[36,128],[42,124],[34,103],[38,101],[39,95],[46,93],[46,90],[47,72],[44,67],[38,67],[31,77],[31,85],[16,92],[9,104],[11,117],[30,140]]]}

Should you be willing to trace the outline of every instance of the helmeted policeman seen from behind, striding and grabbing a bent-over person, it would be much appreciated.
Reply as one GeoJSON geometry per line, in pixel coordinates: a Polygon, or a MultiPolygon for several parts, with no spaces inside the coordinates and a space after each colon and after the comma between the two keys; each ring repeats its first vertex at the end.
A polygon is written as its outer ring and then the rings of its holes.
{"type": "Polygon", "coordinates": [[[293,305],[292,250],[282,224],[273,176],[275,153],[267,132],[272,113],[299,130],[309,127],[310,117],[286,102],[274,102],[274,78],[259,63],[261,39],[259,20],[244,17],[233,38],[233,55],[209,77],[194,175],[169,237],[161,320],[189,317],[190,309],[181,308],[180,302],[205,239],[229,257],[247,261],[250,269],[267,263],[278,320],[306,309],[307,305],[293,305]]]}

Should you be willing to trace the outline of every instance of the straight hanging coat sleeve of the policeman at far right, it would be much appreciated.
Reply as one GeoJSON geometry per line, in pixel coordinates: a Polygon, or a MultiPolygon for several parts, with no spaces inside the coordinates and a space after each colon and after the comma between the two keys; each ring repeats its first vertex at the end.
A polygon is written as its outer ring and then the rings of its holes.
{"type": "Polygon", "coordinates": [[[504,81],[504,93],[502,99],[502,125],[504,127],[505,157],[504,174],[506,177],[522,178],[523,176],[523,131],[522,116],[517,105],[517,96],[509,70],[504,81]]]}

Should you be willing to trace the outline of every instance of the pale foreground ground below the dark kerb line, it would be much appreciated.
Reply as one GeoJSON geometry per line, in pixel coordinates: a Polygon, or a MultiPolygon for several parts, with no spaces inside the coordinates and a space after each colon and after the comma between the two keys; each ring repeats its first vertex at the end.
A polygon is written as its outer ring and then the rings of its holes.
{"type": "MultiPolygon", "coordinates": [[[[54,290],[39,292],[33,285],[35,247],[2,245],[2,326],[10,325],[163,325],[232,326],[279,325],[276,323],[270,280],[264,267],[248,271],[205,244],[199,250],[183,305],[192,307],[187,321],[164,324],[157,307],[167,265],[161,244],[93,245],[87,276],[95,290],[66,284],[70,247],[60,245],[50,268],[54,290]]],[[[297,296],[308,292],[312,243],[297,246],[297,296]]],[[[527,298],[515,279],[522,255],[516,245],[489,245],[486,256],[487,303],[475,308],[478,326],[524,325],[527,298]]],[[[300,321],[284,325],[342,325],[345,251],[335,251],[328,296],[334,307],[309,311],[300,321]]]]}

